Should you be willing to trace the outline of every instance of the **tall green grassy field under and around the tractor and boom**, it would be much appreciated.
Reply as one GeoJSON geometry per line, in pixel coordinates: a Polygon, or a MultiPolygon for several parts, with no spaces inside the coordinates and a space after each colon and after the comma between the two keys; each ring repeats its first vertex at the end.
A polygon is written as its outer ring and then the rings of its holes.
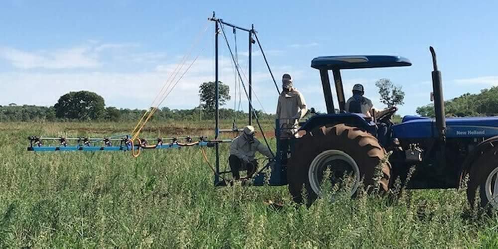
{"type": "MultiPolygon", "coordinates": [[[[145,136],[209,135],[206,124],[152,123],[145,136]]],[[[394,201],[339,196],[308,209],[293,204],[285,186],[213,187],[195,147],[147,150],[136,159],[129,152],[26,151],[28,135],[131,129],[0,123],[0,248],[498,248],[497,216],[470,209],[465,190],[405,191],[394,201]]],[[[225,167],[226,145],[222,154],[225,167]]],[[[212,150],[208,156],[213,162],[212,150]]]]}

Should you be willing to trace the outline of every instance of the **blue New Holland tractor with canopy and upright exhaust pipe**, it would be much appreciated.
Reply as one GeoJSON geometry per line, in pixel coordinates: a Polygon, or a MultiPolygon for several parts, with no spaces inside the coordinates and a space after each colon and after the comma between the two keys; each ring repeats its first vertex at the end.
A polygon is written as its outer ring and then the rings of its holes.
{"type": "Polygon", "coordinates": [[[408,59],[325,56],[311,61],[311,67],[320,71],[327,114],[313,116],[302,124],[301,132],[306,134],[292,139],[290,156],[287,158],[283,150],[277,158],[278,171],[286,171],[286,183],[296,202],[311,204],[321,195],[327,169],[332,185],[346,175],[352,176],[354,195],[361,181],[364,186],[377,182],[381,190],[388,191],[396,178],[404,182],[414,167],[408,189],[458,188],[468,175],[469,201],[474,202],[479,189],[479,205],[498,207],[498,118],[446,119],[441,73],[434,49],[430,51],[436,117],[405,116],[400,124],[391,123],[395,110],[373,118],[347,113],[341,70],[410,66],[408,59]],[[338,110],[329,70],[334,77],[338,110]],[[303,188],[307,200],[302,200],[303,188]]]}

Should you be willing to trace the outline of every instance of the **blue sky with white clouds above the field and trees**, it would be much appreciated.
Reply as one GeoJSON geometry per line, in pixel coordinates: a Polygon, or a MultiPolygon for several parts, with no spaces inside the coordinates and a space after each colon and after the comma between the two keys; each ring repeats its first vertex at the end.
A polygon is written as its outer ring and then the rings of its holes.
{"type": "MultiPolygon", "coordinates": [[[[438,56],[445,99],[498,85],[496,9],[498,2],[491,0],[3,0],[0,105],[51,106],[69,91],[88,90],[103,96],[107,106],[146,109],[190,54],[176,79],[197,59],[161,107],[198,106],[199,85],[214,81],[215,32],[208,17],[216,11],[227,22],[254,24],[277,83],[290,73],[308,107],[319,111],[325,111],[325,103],[319,73],[310,67],[314,57],[409,58],[411,67],[343,70],[342,78],[346,97],[361,83],[378,108],[383,105],[374,83],[390,79],[406,93],[398,113],[410,115],[430,103],[430,45],[438,56]]],[[[225,31],[235,50],[232,29],[225,31]]],[[[236,36],[239,64],[247,75],[248,34],[236,36]]],[[[223,36],[219,42],[220,80],[232,95],[226,107],[239,109],[242,98],[240,106],[247,110],[244,94],[234,94],[240,83],[223,36]]],[[[252,65],[253,105],[274,113],[277,93],[256,45],[252,65]]]]}

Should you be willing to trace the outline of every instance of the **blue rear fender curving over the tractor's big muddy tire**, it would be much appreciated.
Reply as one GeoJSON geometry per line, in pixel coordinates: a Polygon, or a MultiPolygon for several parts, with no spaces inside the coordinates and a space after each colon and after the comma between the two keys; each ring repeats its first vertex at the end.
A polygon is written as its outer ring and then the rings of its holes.
{"type": "MultiPolygon", "coordinates": [[[[367,118],[369,119],[369,118],[367,118]]],[[[366,117],[362,114],[324,114],[311,117],[304,123],[300,130],[309,132],[316,127],[331,126],[336,124],[347,124],[349,126],[358,127],[369,133],[375,134],[375,123],[367,121],[366,117]]]]}

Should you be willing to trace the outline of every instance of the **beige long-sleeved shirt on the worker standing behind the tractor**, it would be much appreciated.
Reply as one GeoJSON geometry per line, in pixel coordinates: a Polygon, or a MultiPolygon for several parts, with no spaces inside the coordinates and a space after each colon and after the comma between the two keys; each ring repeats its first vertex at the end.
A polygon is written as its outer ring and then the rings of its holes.
{"type": "Polygon", "coordinates": [[[276,112],[281,137],[294,135],[298,129],[299,119],[303,118],[307,111],[306,102],[299,91],[294,88],[289,92],[282,91],[278,96],[276,112]]]}

